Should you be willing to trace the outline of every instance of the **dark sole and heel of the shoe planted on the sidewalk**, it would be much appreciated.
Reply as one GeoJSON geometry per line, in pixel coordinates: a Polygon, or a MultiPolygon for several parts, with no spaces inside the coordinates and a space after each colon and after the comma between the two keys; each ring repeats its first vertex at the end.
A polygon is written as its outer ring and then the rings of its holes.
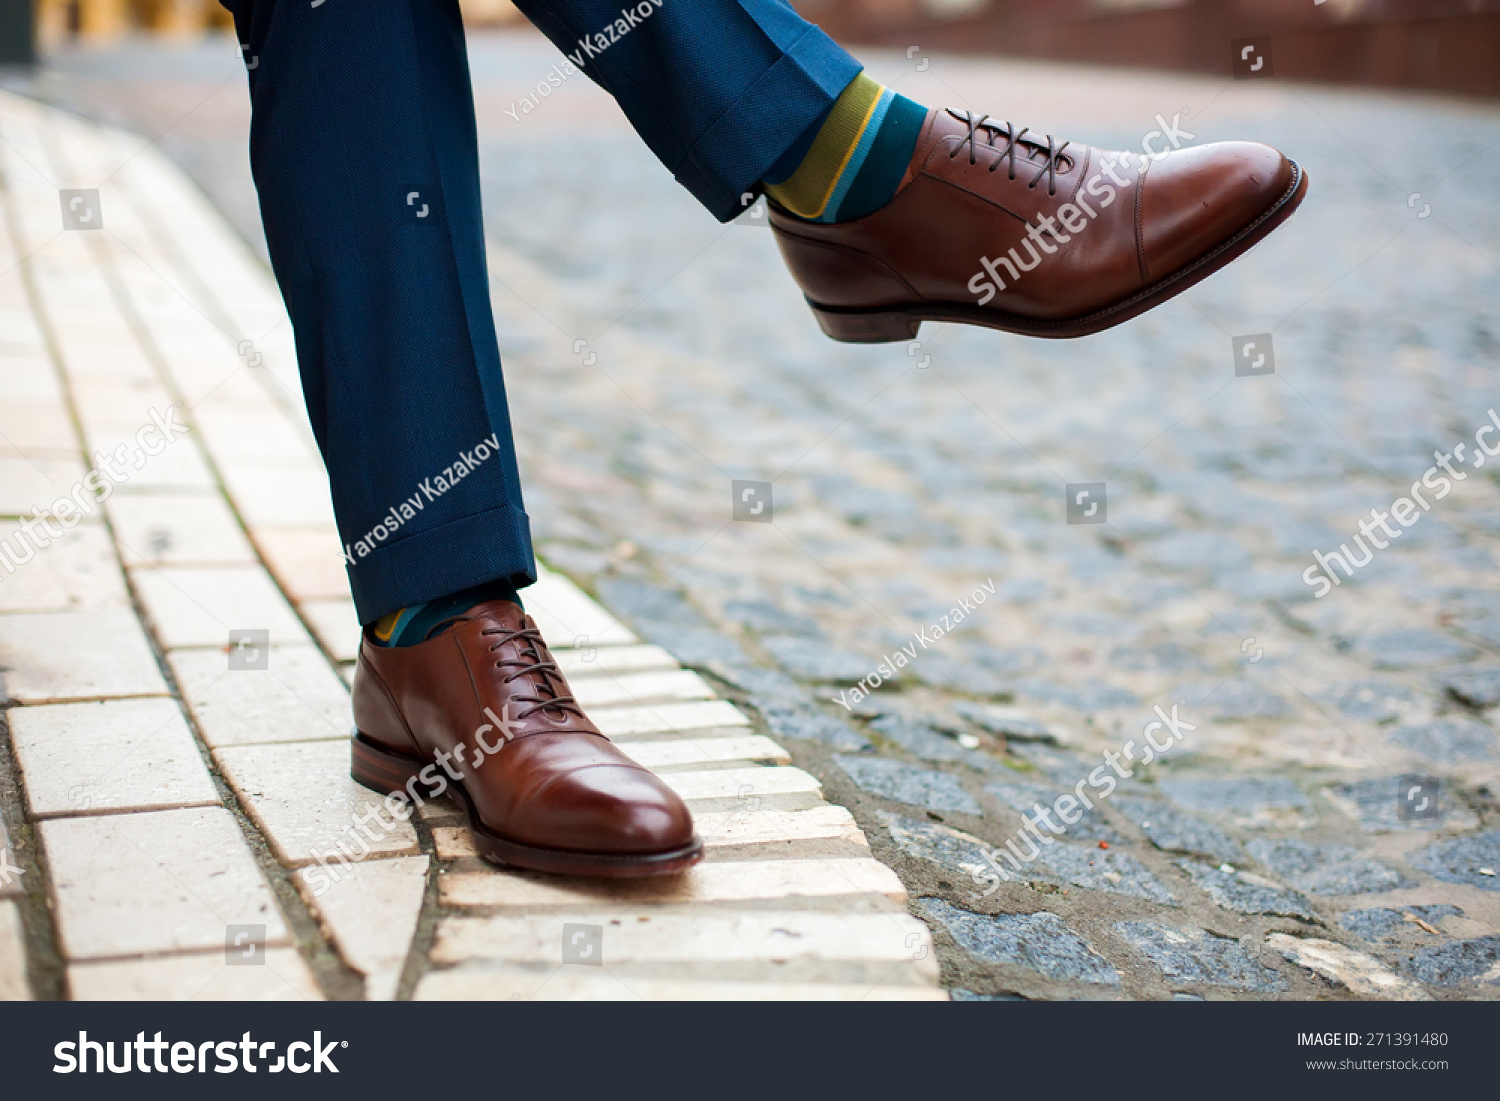
{"type": "MultiPolygon", "coordinates": [[[[416,790],[424,798],[441,795],[440,784],[428,784],[420,772],[430,760],[404,758],[376,747],[363,734],[356,732],[352,742],[352,765],[350,776],[356,783],[369,788],[381,795],[406,790],[416,780],[416,790]]],[[[480,856],[507,868],[525,868],[526,872],[548,872],[556,876],[591,876],[597,879],[645,879],[650,876],[670,876],[686,872],[704,860],[704,842],[698,837],[693,843],[672,852],[652,854],[609,854],[609,852],[572,852],[566,849],[543,849],[534,844],[512,842],[492,832],[480,822],[474,800],[464,790],[464,784],[442,777],[447,786],[459,794],[468,812],[470,832],[474,837],[474,848],[480,856]]]]}

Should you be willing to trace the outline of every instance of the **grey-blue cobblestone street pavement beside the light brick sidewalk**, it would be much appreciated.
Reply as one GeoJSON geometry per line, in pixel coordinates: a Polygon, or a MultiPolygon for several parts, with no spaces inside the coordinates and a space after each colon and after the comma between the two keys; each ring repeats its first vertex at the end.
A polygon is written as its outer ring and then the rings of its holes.
{"type": "MultiPolygon", "coordinates": [[[[542,554],[854,812],[945,987],[1500,993],[1500,486],[1476,452],[1500,423],[1500,111],[872,56],[922,102],[1094,144],[1138,147],[1158,112],[1269,141],[1312,190],[1112,333],[850,348],[771,234],[710,220],[580,76],[522,112],[544,42],[472,54],[542,554]],[[1236,374],[1262,351],[1274,374],[1236,374]],[[734,480],[771,483],[742,522],[734,480]],[[1104,483],[1077,506],[1104,522],[1066,522],[1077,483],[1104,483]],[[1394,507],[1400,537],[1354,542],[1394,507]],[[1314,550],[1340,544],[1372,560],[1316,598],[1314,550]]],[[[112,64],[32,90],[152,134],[198,102],[164,148],[244,230],[243,180],[206,152],[243,93],[206,69],[166,111],[152,88],[188,62],[156,84],[112,64]]]]}

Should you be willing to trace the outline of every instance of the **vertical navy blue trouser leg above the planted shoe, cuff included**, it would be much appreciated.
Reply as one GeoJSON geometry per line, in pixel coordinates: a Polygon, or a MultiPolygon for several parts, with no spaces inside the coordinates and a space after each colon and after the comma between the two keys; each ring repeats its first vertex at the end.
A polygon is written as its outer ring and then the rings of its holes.
{"type": "Polygon", "coordinates": [[[226,0],[362,622],[536,579],[458,0],[226,0]]]}

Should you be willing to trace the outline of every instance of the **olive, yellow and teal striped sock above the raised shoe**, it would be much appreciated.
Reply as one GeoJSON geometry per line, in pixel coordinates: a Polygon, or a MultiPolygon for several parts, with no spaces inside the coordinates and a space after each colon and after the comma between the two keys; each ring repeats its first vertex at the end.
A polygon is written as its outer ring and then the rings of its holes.
{"type": "Polygon", "coordinates": [[[804,135],[771,166],[762,182],[765,194],[810,222],[850,222],[874,213],[902,186],[926,122],[926,106],[860,74],[816,136],[804,135]]]}

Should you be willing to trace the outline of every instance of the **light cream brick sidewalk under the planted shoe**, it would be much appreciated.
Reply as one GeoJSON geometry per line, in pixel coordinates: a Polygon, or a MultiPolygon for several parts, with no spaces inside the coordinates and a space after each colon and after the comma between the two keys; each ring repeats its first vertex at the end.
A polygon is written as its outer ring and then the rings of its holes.
{"type": "Polygon", "coordinates": [[[12,96],[0,138],[0,998],[944,996],[852,816],[555,573],[528,609],[708,861],[518,876],[452,804],[378,818],[274,286],[144,140],[12,96]]]}

